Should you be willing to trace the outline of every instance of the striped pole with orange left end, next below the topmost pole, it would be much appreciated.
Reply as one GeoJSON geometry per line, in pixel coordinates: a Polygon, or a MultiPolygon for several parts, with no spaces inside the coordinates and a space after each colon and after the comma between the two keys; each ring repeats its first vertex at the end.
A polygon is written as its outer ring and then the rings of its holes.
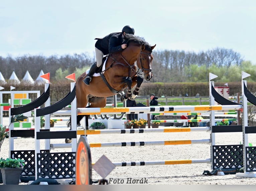
{"type": "Polygon", "coordinates": [[[173,132],[209,132],[210,127],[170,127],[170,128],[146,128],[146,129],[92,129],[77,130],[78,135],[96,135],[96,134],[133,134],[133,133],[173,133],[173,132]]]}

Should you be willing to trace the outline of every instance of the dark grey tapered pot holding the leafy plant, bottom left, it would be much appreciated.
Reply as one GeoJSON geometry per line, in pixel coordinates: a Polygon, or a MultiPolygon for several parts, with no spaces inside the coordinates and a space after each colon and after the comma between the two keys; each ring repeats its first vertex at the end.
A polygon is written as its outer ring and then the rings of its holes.
{"type": "Polygon", "coordinates": [[[23,168],[1,168],[3,184],[19,184],[23,168]]]}

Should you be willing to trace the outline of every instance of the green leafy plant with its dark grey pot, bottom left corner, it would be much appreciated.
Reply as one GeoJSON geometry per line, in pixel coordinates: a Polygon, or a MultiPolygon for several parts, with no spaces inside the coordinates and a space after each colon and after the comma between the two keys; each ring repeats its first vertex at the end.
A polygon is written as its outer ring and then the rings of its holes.
{"type": "Polygon", "coordinates": [[[25,165],[20,158],[0,159],[3,184],[19,184],[20,174],[25,165]]]}

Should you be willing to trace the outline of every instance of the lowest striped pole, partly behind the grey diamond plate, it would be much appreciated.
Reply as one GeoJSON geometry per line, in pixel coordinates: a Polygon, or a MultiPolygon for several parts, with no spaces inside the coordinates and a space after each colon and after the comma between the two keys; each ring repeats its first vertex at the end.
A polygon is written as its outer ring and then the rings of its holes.
{"type": "MultiPolygon", "coordinates": [[[[115,166],[148,166],[148,165],[172,165],[172,164],[200,164],[211,163],[211,159],[195,160],[162,160],[162,161],[131,161],[131,162],[112,162],[115,166]]],[[[92,164],[94,165],[94,163],[92,164]]]]}

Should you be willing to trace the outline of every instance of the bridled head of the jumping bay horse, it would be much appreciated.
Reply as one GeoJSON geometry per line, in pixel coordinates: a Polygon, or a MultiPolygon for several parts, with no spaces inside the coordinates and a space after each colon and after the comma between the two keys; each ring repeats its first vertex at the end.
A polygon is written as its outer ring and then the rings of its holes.
{"type": "Polygon", "coordinates": [[[150,81],[153,78],[151,63],[153,60],[152,50],[155,48],[155,46],[156,44],[154,46],[142,44],[140,55],[137,58],[137,66],[144,73],[144,79],[146,81],[150,81]]]}

